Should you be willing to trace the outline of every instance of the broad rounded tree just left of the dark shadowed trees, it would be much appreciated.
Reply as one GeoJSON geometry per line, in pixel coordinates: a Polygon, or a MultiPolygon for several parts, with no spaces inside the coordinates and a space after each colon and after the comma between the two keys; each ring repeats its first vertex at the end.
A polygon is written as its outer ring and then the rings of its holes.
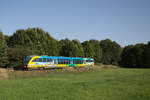
{"type": "Polygon", "coordinates": [[[100,41],[100,46],[103,52],[102,62],[104,64],[118,65],[121,59],[121,46],[110,39],[100,41]]]}

